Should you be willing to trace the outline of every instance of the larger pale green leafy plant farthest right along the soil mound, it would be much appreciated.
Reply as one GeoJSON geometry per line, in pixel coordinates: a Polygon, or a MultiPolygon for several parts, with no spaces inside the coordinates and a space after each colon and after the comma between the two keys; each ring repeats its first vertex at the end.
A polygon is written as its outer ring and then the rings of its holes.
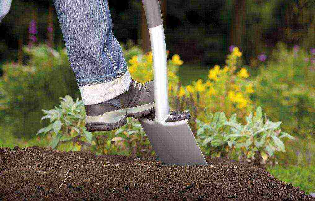
{"type": "Polygon", "coordinates": [[[265,164],[275,158],[275,151],[285,152],[282,138],[295,139],[288,133],[281,132],[278,129],[281,121],[272,122],[267,119],[265,114],[264,123],[261,107],[258,107],[255,115],[251,112],[246,117],[246,121],[246,125],[241,125],[235,121],[226,121],[225,125],[231,126],[232,134],[229,137],[238,138],[235,148],[241,148],[248,162],[265,164]]]}

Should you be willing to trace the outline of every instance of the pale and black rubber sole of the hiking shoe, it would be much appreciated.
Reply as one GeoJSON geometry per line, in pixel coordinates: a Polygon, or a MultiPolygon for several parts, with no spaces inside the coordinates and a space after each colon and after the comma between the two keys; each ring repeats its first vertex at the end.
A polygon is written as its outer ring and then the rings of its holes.
{"type": "Polygon", "coordinates": [[[139,119],[154,111],[154,102],[133,108],[118,109],[98,116],[86,116],[85,127],[89,132],[112,131],[127,124],[127,117],[139,119]]]}

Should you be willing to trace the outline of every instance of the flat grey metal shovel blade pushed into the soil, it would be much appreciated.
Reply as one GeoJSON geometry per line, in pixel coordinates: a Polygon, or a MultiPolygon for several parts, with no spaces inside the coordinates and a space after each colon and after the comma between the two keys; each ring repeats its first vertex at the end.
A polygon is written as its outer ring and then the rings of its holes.
{"type": "Polygon", "coordinates": [[[139,119],[151,145],[164,164],[208,166],[188,120],[156,122],[139,119]]]}

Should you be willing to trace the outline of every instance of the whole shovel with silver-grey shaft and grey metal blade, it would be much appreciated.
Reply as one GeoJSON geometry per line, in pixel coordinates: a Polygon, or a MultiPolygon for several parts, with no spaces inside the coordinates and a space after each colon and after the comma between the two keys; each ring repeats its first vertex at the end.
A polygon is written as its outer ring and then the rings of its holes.
{"type": "Polygon", "coordinates": [[[139,119],[151,145],[164,164],[208,166],[188,125],[190,114],[169,112],[167,54],[158,0],[142,0],[153,56],[155,116],[139,119]]]}

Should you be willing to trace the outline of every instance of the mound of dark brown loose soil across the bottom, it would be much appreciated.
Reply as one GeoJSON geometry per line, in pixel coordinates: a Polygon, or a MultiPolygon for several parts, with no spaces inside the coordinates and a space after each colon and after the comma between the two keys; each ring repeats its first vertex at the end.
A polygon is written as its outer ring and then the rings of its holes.
{"type": "Polygon", "coordinates": [[[207,162],[0,148],[0,200],[315,200],[256,166],[207,162]]]}

